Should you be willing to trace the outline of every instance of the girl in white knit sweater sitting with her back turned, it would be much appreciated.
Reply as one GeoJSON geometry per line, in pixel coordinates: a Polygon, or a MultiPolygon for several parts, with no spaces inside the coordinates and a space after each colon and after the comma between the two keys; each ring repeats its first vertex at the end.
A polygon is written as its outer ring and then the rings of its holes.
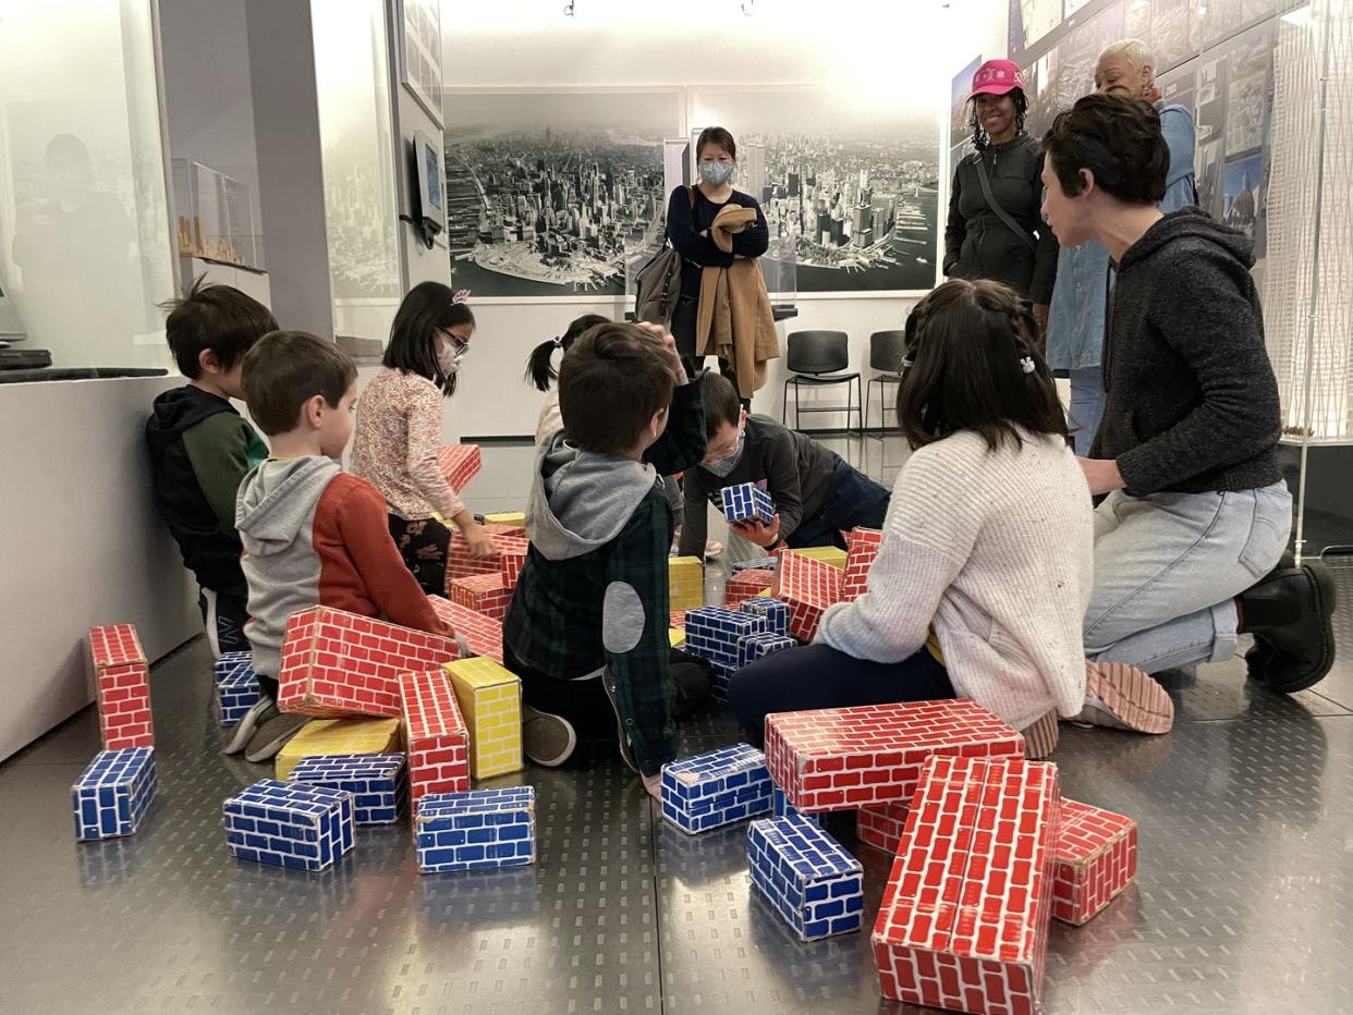
{"type": "MultiPolygon", "coordinates": [[[[1053,713],[1086,710],[1093,525],[1032,314],[1000,283],[955,280],[908,332],[897,415],[913,453],[867,591],[829,608],[812,646],[735,674],[729,705],[759,738],[770,712],[967,697],[1050,748],[1053,713]]],[[[1149,681],[1119,675],[1124,696],[1149,681]]],[[[1092,704],[1084,719],[1114,719],[1092,704]]]]}

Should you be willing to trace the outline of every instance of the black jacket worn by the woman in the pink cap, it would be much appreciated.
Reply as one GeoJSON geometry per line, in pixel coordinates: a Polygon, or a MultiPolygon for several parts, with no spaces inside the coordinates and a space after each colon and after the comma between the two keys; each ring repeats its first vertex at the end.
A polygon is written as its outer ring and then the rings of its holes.
{"type": "Polygon", "coordinates": [[[1004,281],[1034,303],[1053,299],[1057,280],[1057,237],[1043,222],[1043,149],[1028,134],[1020,134],[986,152],[967,154],[954,168],[948,196],[948,223],[944,227],[944,275],[951,279],[993,279],[1004,281]],[[1009,226],[997,218],[982,194],[977,158],[986,164],[992,195],[1023,226],[1035,249],[1031,250],[1009,226]]]}

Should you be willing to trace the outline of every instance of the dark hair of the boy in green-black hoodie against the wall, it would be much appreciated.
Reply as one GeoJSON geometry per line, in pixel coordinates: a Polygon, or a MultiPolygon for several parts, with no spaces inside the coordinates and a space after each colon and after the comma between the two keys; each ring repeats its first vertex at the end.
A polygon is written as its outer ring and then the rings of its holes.
{"type": "Polygon", "coordinates": [[[165,337],[185,378],[202,376],[202,353],[211,349],[222,369],[230,369],[253,344],[277,330],[277,318],[234,286],[206,286],[199,276],[183,299],[161,303],[169,311],[165,337]]]}

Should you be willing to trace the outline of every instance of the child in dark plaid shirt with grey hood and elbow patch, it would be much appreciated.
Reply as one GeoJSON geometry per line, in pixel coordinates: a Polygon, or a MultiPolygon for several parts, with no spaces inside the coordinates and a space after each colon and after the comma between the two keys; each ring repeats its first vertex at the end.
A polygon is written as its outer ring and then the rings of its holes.
{"type": "Polygon", "coordinates": [[[532,544],[503,623],[524,748],[563,765],[579,736],[610,736],[618,720],[621,757],[656,796],[676,752],[662,476],[705,451],[700,386],[670,334],[606,323],[564,356],[559,406],[568,440],[556,432],[536,452],[532,544]]]}

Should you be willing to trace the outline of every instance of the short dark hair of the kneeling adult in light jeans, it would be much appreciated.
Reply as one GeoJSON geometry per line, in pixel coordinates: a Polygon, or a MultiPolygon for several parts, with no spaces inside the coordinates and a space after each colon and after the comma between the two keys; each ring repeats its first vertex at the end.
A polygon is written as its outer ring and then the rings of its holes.
{"type": "Polygon", "coordinates": [[[1165,198],[1170,149],[1161,115],[1145,99],[1086,95],[1057,115],[1043,135],[1043,152],[1068,198],[1085,189],[1082,169],[1126,204],[1160,204],[1165,198]]]}

